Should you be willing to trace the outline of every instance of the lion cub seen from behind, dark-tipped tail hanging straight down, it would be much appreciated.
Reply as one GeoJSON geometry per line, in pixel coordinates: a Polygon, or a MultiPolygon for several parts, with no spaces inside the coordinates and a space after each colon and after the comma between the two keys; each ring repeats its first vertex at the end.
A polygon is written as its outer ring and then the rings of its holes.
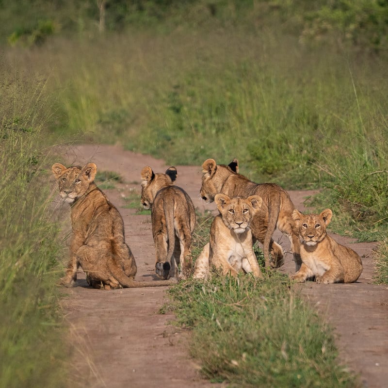
{"type": "Polygon", "coordinates": [[[141,201],[145,209],[151,209],[155,272],[162,279],[173,276],[186,278],[192,268],[195,210],[189,195],[174,185],[177,175],[177,169],[173,166],[165,174],[155,174],[149,166],[141,172],[141,201]]]}

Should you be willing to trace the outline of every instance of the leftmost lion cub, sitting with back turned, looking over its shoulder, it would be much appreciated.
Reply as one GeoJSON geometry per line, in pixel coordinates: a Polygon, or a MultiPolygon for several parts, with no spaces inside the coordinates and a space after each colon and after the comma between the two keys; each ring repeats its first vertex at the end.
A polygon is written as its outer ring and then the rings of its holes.
{"type": "Polygon", "coordinates": [[[94,183],[97,166],[82,168],[52,165],[59,192],[71,207],[73,236],[70,259],[62,284],[72,287],[79,266],[90,286],[105,290],[120,287],[166,286],[170,282],[137,282],[136,263],[124,240],[124,225],[118,210],[94,183]]]}

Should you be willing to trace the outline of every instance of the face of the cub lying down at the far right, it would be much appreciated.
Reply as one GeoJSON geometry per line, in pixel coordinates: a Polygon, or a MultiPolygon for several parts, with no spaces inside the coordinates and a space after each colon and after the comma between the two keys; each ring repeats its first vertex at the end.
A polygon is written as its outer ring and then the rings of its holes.
{"type": "Polygon", "coordinates": [[[299,228],[299,237],[302,243],[314,246],[326,236],[326,226],[329,225],[333,212],[330,209],[323,210],[320,214],[304,215],[294,210],[292,218],[299,228]]]}

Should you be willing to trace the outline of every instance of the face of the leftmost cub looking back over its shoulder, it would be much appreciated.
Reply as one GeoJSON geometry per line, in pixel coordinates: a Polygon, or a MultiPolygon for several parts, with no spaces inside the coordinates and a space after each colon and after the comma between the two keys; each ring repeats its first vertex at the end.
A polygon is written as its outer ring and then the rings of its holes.
{"type": "Polygon", "coordinates": [[[61,163],[55,163],[51,169],[59,185],[59,194],[70,204],[88,192],[97,173],[95,163],[87,163],[82,168],[80,166],[66,168],[61,163]]]}

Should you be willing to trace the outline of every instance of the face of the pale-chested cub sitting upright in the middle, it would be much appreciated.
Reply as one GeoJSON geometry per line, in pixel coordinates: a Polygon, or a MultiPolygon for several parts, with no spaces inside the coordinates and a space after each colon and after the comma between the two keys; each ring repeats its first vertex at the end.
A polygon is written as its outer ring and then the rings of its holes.
{"type": "Polygon", "coordinates": [[[224,224],[237,234],[243,233],[249,228],[253,215],[260,209],[262,203],[259,195],[251,195],[247,199],[243,199],[216,194],[214,201],[224,224]]]}

